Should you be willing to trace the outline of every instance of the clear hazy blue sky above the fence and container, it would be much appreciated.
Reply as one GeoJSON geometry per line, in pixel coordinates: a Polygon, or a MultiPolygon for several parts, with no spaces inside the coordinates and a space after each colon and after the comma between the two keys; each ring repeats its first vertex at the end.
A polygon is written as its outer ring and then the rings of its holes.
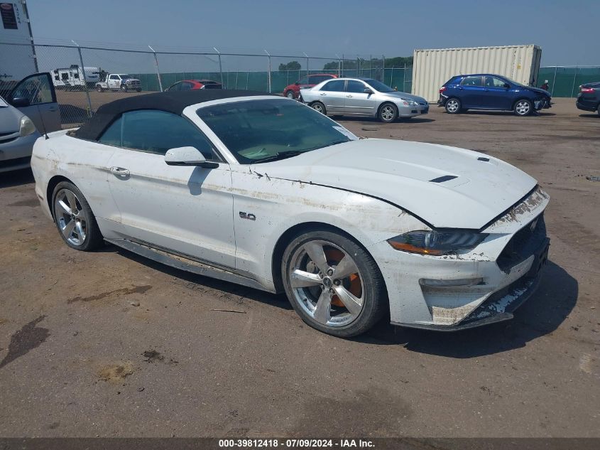
{"type": "Polygon", "coordinates": [[[28,0],[27,5],[38,42],[351,58],[409,56],[415,48],[536,44],[542,65],[600,65],[600,0],[28,0]]]}

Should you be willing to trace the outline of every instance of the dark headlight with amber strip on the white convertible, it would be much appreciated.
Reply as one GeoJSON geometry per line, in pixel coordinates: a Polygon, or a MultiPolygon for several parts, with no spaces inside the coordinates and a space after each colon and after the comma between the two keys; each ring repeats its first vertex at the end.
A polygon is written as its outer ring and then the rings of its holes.
{"type": "Polygon", "coordinates": [[[487,237],[486,233],[471,231],[410,231],[388,239],[396,250],[421,255],[447,255],[458,250],[471,250],[487,237]]]}

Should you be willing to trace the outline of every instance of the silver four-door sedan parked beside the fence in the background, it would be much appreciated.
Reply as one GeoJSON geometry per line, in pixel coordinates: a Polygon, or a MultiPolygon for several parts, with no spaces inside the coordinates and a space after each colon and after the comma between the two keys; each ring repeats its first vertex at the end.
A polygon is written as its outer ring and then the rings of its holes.
{"type": "Polygon", "coordinates": [[[398,92],[371,78],[337,78],[302,90],[302,99],[322,114],[378,117],[395,122],[429,112],[423,97],[398,92]]]}

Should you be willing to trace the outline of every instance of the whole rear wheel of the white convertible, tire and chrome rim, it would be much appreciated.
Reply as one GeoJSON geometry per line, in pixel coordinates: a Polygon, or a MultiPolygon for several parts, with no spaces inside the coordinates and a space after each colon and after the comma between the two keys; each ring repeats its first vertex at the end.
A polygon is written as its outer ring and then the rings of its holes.
{"type": "Polygon", "coordinates": [[[62,240],[75,250],[89,252],[104,243],[92,208],[73,183],[61,181],[52,195],[52,215],[62,240]]]}

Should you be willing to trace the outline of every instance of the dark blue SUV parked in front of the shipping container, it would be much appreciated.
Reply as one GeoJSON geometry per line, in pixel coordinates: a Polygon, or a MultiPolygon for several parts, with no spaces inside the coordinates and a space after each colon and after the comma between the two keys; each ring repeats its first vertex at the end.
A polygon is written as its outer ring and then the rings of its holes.
{"type": "Polygon", "coordinates": [[[476,73],[458,75],[445,82],[437,105],[446,108],[449,114],[467,109],[493,109],[528,116],[550,108],[550,100],[550,93],[538,87],[524,86],[501,75],[476,73]]]}

